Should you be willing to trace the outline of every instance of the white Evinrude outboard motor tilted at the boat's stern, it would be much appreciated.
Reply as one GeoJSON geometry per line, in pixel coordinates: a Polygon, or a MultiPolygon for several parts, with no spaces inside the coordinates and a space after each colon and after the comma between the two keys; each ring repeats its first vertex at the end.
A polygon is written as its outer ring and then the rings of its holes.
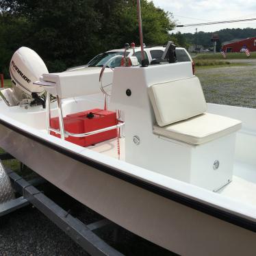
{"type": "Polygon", "coordinates": [[[41,98],[44,89],[33,84],[42,74],[49,73],[40,56],[27,47],[21,47],[12,56],[9,70],[14,98],[18,101],[16,105],[44,106],[41,98]]]}

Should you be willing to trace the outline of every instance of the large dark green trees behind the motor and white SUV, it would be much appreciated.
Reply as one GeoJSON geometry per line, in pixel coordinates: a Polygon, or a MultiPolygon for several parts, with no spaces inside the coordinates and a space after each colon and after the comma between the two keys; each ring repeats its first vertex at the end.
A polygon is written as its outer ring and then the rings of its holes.
{"type": "MultiPolygon", "coordinates": [[[[175,26],[172,16],[142,0],[146,44],[166,44],[175,26]]],[[[0,73],[8,75],[19,47],[34,49],[50,72],[86,64],[94,55],[139,44],[134,0],[1,0],[0,73]]]]}

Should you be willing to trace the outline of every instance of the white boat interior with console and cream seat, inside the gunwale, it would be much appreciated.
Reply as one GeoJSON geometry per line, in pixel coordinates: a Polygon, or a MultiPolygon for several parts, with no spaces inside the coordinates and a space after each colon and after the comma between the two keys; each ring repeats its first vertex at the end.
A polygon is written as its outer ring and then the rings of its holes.
{"type": "MultiPolygon", "coordinates": [[[[57,95],[63,98],[62,112],[66,116],[103,108],[104,95],[92,94],[99,88],[92,91],[81,85],[79,90],[79,81],[84,77],[90,80],[91,75],[94,73],[46,74],[41,81],[55,84],[49,89],[53,94],[53,90],[60,90],[57,95]],[[76,79],[77,88],[73,90],[70,83],[73,85],[76,79]],[[77,97],[79,94],[85,95],[77,97]]],[[[110,110],[122,110],[125,116],[120,138],[87,148],[68,142],[68,147],[80,154],[94,151],[256,207],[256,123],[251,118],[256,110],[206,104],[200,81],[192,75],[188,63],[152,66],[146,71],[140,67],[116,68],[108,105],[110,110]],[[131,90],[130,97],[126,88],[131,90]]],[[[51,103],[51,117],[57,116],[57,109],[57,102],[51,103]]],[[[8,107],[2,100],[1,115],[41,136],[47,134],[47,112],[42,106],[8,107]]],[[[49,135],[47,140],[55,138],[49,135]]]]}

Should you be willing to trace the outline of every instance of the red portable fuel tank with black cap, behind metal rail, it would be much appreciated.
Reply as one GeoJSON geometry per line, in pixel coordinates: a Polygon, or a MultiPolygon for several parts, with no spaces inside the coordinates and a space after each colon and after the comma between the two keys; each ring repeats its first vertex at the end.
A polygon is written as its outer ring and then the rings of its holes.
{"type": "MultiPolygon", "coordinates": [[[[65,131],[71,133],[87,133],[89,131],[95,131],[117,124],[115,112],[100,109],[69,114],[66,117],[64,117],[63,120],[65,131]]],[[[58,117],[51,118],[51,127],[53,129],[60,129],[58,117]]],[[[60,138],[60,135],[53,131],[51,131],[51,135],[60,138]]],[[[113,129],[110,131],[103,131],[101,133],[86,136],[83,138],[69,136],[68,138],[65,138],[65,140],[73,142],[79,146],[90,146],[92,144],[97,144],[105,140],[116,138],[116,136],[117,131],[116,129],[113,129]]]]}

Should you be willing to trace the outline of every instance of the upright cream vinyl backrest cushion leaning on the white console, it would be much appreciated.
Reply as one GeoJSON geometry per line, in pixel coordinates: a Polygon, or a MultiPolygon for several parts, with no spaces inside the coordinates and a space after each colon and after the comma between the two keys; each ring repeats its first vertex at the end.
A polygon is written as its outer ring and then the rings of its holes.
{"type": "Polygon", "coordinates": [[[149,98],[160,127],[203,114],[207,110],[198,77],[150,86],[149,98]]]}

